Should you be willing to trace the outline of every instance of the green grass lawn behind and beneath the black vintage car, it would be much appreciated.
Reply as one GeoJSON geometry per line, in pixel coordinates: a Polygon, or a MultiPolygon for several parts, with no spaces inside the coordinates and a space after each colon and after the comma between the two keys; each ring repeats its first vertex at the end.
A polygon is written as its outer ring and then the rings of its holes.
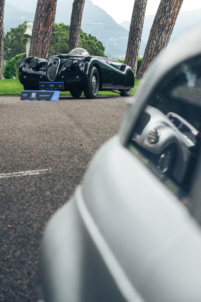
{"type": "MultiPolygon", "coordinates": [[[[135,80],[135,87],[131,89],[130,95],[133,95],[140,80],[135,80]]],[[[0,95],[21,95],[23,85],[20,84],[19,79],[0,80],[0,95]]],[[[60,92],[60,95],[70,95],[70,92],[60,92]]],[[[111,91],[100,91],[98,95],[118,95],[111,91]]]]}

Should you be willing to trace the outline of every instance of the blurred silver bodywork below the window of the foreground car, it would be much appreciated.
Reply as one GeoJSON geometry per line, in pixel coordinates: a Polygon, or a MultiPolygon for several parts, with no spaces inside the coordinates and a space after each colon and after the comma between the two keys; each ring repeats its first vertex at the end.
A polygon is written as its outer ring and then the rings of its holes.
{"type": "Polygon", "coordinates": [[[48,302],[199,301],[200,252],[187,209],[115,137],[48,224],[39,282],[48,302]]]}

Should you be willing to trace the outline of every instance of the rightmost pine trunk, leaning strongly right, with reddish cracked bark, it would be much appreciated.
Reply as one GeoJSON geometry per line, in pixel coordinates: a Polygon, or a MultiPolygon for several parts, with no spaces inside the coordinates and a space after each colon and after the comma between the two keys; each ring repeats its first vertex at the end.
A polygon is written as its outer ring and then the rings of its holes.
{"type": "Polygon", "coordinates": [[[141,79],[155,57],[167,45],[183,0],[161,0],[149,34],[137,79],[141,79]]]}

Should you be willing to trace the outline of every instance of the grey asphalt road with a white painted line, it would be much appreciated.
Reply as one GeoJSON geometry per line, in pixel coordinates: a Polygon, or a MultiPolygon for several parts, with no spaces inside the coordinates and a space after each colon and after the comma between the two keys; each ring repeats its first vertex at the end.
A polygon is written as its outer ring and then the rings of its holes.
{"type": "Polygon", "coordinates": [[[96,150],[118,132],[126,109],[120,96],[0,97],[0,301],[37,300],[46,223],[80,184],[96,150]]]}

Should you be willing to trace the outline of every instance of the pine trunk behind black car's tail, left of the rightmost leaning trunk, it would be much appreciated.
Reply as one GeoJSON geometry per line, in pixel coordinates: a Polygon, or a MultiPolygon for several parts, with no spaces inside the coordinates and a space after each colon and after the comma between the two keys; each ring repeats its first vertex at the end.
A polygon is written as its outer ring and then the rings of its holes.
{"type": "Polygon", "coordinates": [[[130,23],[125,64],[131,67],[134,77],[137,73],[137,58],[140,49],[146,4],[147,0],[135,0],[130,23]]]}

